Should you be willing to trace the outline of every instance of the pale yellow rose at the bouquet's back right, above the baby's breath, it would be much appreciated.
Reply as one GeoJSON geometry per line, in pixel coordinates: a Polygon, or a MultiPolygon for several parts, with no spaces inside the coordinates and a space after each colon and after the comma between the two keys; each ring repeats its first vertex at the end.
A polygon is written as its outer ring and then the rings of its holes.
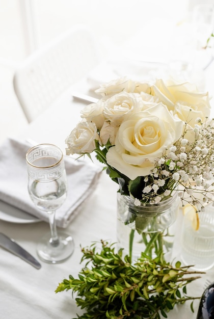
{"type": "Polygon", "coordinates": [[[172,110],[183,121],[188,121],[191,126],[194,126],[197,117],[204,121],[210,115],[208,92],[199,92],[197,87],[191,83],[168,81],[165,84],[162,79],[158,79],[155,85],[151,86],[151,94],[157,96],[169,110],[172,110]]]}

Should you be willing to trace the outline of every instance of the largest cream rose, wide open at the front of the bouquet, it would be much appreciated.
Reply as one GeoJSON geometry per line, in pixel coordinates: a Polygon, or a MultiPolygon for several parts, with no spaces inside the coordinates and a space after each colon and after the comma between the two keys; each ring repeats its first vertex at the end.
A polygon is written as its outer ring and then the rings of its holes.
{"type": "Polygon", "coordinates": [[[182,130],[183,122],[162,103],[132,114],[119,127],[107,163],[132,180],[149,175],[155,159],[180,138],[182,130]]]}

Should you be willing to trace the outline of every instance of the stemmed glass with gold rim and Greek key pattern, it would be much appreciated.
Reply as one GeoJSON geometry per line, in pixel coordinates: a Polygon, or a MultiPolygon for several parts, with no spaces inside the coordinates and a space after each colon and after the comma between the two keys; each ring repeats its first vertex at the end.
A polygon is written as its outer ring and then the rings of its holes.
{"type": "Polygon", "coordinates": [[[61,149],[52,144],[34,146],[26,153],[28,191],[37,208],[47,212],[50,234],[41,238],[37,246],[39,257],[58,263],[71,256],[74,250],[70,235],[57,232],[56,209],[67,196],[67,178],[61,149]]]}

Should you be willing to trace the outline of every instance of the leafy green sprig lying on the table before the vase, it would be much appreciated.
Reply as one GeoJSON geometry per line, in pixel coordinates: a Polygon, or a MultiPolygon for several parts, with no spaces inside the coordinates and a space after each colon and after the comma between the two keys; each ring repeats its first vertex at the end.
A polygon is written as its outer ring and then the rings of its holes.
{"type": "Polygon", "coordinates": [[[201,272],[167,263],[160,254],[155,259],[145,253],[135,262],[130,263],[122,249],[115,252],[114,245],[101,241],[101,249],[96,244],[83,248],[81,262],[85,267],[78,274],[78,279],[64,279],[56,293],[72,289],[77,294],[77,306],[86,309],[80,319],[159,319],[160,314],[167,317],[167,312],[176,304],[182,304],[200,297],[186,295],[186,284],[200,278],[201,272]]]}

